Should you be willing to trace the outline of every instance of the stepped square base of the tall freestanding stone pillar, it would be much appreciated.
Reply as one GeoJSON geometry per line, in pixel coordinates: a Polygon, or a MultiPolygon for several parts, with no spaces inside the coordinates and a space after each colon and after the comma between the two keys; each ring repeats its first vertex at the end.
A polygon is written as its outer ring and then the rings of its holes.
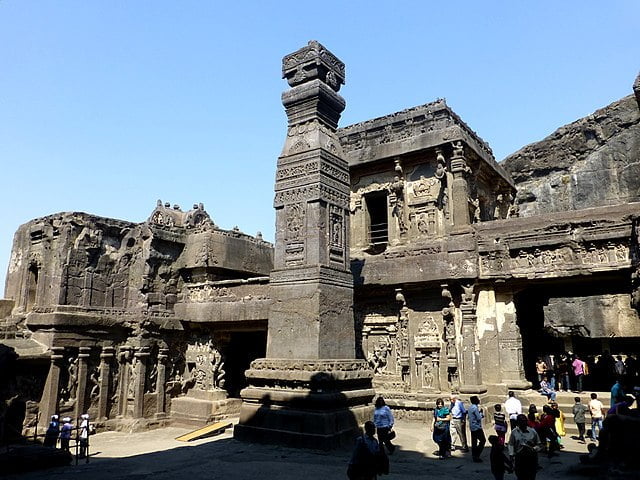
{"type": "Polygon", "coordinates": [[[252,362],[234,437],[329,450],[352,446],[373,418],[373,372],[364,360],[252,362]]]}

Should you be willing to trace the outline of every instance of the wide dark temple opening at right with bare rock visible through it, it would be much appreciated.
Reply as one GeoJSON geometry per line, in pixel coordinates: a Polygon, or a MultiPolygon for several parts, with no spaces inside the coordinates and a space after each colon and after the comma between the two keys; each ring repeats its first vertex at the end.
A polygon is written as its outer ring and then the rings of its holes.
{"type": "Polygon", "coordinates": [[[533,285],[517,293],[514,301],[527,380],[537,386],[538,357],[550,365],[560,354],[570,352],[591,367],[587,385],[608,390],[611,376],[600,372],[598,357],[637,354],[640,350],[637,337],[622,329],[637,319],[629,306],[626,285],[624,278],[603,276],[574,279],[571,284],[533,285]]]}

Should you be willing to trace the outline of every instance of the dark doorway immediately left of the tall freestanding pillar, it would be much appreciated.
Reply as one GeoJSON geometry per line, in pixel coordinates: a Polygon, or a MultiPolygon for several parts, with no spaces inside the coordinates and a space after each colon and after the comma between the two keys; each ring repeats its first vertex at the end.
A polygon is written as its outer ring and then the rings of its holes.
{"type": "Polygon", "coordinates": [[[267,351],[267,332],[231,332],[225,352],[225,389],[230,397],[240,397],[240,390],[247,386],[244,372],[257,358],[264,358],[267,351]]]}

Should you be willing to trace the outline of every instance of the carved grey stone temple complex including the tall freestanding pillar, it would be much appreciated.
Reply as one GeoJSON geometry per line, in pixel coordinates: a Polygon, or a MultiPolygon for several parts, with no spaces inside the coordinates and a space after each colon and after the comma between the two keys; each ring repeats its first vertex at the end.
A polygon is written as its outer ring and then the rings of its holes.
{"type": "MultiPolygon", "coordinates": [[[[540,353],[640,350],[637,188],[534,208],[555,198],[553,149],[531,185],[526,151],[498,164],[443,100],[337,128],[345,68],[317,42],[283,77],[275,245],[161,201],[139,224],[59,213],[16,232],[0,399],[24,403],[25,428],[240,415],[240,438],[331,447],[376,393],[424,418],[442,392],[530,388],[540,353]]],[[[638,142],[635,100],[592,152],[638,142]]],[[[589,170],[571,168],[578,195],[589,170]]]]}

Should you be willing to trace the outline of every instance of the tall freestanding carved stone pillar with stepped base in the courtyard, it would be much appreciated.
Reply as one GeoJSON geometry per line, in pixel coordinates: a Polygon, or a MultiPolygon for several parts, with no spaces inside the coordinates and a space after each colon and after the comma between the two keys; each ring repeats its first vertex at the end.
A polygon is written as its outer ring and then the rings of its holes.
{"type": "Polygon", "coordinates": [[[370,418],[372,372],[355,359],[349,166],[336,128],[344,64],[318,42],[287,55],[289,128],[276,172],[267,358],[251,363],[234,436],[332,448],[370,418]]]}

